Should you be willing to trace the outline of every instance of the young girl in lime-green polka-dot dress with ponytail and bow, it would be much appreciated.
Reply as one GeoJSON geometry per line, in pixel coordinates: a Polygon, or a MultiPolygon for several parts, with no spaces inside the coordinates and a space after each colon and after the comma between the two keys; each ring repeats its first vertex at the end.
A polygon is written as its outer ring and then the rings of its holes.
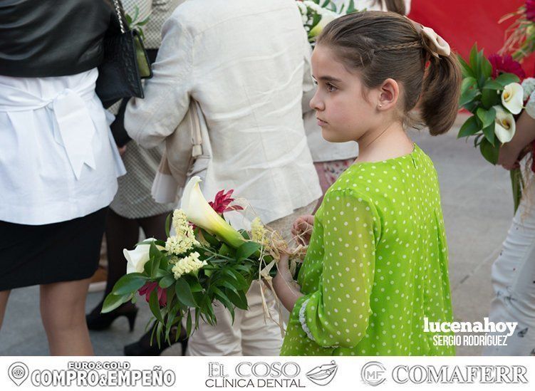
{"type": "Polygon", "coordinates": [[[435,167],[404,128],[418,103],[432,135],[450,129],[457,59],[430,28],[368,11],[326,26],[312,68],[323,137],[360,153],[316,216],[294,224],[313,231],[300,291],[287,259],[274,278],[291,311],[281,355],[453,355],[424,331],[424,318],[452,321],[447,244],[435,167]]]}

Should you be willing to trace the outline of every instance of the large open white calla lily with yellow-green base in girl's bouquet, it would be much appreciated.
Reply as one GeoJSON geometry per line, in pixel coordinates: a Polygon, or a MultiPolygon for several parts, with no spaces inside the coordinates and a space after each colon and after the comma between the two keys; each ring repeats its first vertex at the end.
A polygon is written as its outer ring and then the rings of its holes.
{"type": "Polygon", "coordinates": [[[237,249],[244,244],[245,239],[210,207],[202,195],[199,182],[201,182],[199,177],[189,179],[182,194],[180,209],[186,214],[188,221],[206,229],[210,234],[217,234],[227,244],[237,249]]]}

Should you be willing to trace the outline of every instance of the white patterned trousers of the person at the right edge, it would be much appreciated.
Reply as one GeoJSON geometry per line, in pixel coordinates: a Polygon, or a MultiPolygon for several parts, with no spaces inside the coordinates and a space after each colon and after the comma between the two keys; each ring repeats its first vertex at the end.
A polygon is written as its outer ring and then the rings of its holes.
{"type": "MultiPolygon", "coordinates": [[[[530,175],[529,181],[535,178],[530,175]]],[[[484,355],[535,355],[535,183],[524,191],[519,209],[492,266],[489,320],[518,322],[507,346],[489,346],[484,355]]]]}

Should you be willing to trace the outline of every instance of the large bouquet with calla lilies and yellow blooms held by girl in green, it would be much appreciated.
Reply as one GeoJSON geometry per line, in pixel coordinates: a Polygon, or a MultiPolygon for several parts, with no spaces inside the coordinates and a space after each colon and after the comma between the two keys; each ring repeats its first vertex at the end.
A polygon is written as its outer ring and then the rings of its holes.
{"type": "MultiPolygon", "coordinates": [[[[251,231],[234,229],[223,217],[224,212],[242,209],[231,205],[232,190],[220,191],[209,203],[199,182],[199,177],[192,177],[187,183],[180,209],[172,214],[173,234],[167,218],[166,241],[147,239],[134,250],[124,250],[127,274],[103,303],[102,312],[106,313],[135,301],[137,292],[145,296],[155,318],[149,323],[153,324],[152,339],[156,335],[158,345],[162,333],[170,343],[173,325],[177,325],[178,338],[182,318],[186,319],[187,335],[198,328],[199,319],[214,325],[216,300],[234,320],[235,308],[247,309],[246,292],[254,279],[271,284],[276,273],[273,266],[282,253],[291,255],[294,271],[296,258],[303,256],[302,246],[289,251],[279,234],[259,218],[252,221],[251,231]]],[[[264,297],[263,290],[261,293],[264,297]]],[[[271,318],[269,313],[267,316],[271,318]]]]}

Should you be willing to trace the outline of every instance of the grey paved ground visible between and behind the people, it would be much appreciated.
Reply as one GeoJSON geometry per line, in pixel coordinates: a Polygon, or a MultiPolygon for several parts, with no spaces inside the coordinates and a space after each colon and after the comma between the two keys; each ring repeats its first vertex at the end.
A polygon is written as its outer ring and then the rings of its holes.
{"type": "MultiPolygon", "coordinates": [[[[411,132],[413,139],[435,162],[442,189],[447,239],[450,245],[450,279],[457,320],[482,320],[492,298],[490,269],[512,217],[509,175],[484,162],[472,145],[456,140],[457,129],[430,137],[411,132]]],[[[90,310],[101,293],[88,295],[90,310]]],[[[97,355],[122,355],[123,345],[142,335],[150,311],[140,302],[133,333],[120,318],[110,330],[92,332],[97,355]]],[[[459,348],[459,355],[479,355],[479,348],[459,348]]],[[[180,345],[165,355],[180,354],[180,345]]],[[[48,355],[46,335],[38,315],[38,288],[21,288],[11,293],[0,332],[0,355],[48,355]]]]}

